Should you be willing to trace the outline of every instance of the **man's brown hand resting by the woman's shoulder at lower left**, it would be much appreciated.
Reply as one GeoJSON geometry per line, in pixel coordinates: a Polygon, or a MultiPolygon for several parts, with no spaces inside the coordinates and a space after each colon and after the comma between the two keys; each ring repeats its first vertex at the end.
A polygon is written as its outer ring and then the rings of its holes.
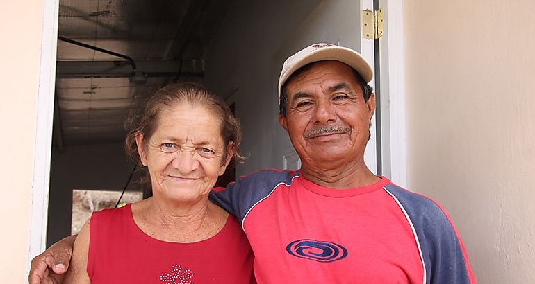
{"type": "Polygon", "coordinates": [[[63,238],[31,260],[30,284],[59,284],[69,269],[76,236],[63,238]]]}

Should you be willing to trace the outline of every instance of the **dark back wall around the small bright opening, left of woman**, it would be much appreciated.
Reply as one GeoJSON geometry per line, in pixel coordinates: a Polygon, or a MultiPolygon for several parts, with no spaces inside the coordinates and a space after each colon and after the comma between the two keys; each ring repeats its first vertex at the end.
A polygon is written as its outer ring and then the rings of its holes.
{"type": "Polygon", "coordinates": [[[122,190],[131,163],[122,143],[68,146],[52,151],[47,247],[71,234],[72,190],[122,190]]]}

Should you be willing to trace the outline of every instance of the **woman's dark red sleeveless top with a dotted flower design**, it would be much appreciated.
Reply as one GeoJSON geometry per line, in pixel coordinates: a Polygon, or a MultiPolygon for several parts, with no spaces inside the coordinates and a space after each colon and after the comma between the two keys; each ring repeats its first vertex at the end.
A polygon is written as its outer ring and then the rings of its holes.
{"type": "Polygon", "coordinates": [[[156,240],[135,224],[131,204],[94,212],[88,274],[98,283],[256,283],[253,254],[229,215],[212,238],[193,243],[156,240]]]}

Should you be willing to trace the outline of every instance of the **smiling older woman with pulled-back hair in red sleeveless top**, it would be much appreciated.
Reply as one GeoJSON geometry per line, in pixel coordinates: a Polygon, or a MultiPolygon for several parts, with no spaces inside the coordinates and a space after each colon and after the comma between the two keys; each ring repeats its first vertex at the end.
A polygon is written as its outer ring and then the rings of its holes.
{"type": "Polygon", "coordinates": [[[93,213],[64,283],[254,282],[240,224],[208,201],[241,139],[227,105],[200,85],[169,85],[131,125],[126,150],[147,167],[153,196],[93,213]]]}

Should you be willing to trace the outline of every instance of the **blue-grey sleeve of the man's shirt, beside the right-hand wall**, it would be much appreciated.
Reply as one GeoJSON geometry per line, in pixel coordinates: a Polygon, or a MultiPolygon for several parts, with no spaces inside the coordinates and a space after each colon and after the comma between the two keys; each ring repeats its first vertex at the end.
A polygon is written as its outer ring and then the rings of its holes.
{"type": "Polygon", "coordinates": [[[393,184],[386,189],[413,224],[425,265],[425,283],[475,283],[461,238],[443,209],[431,199],[393,184]]]}

